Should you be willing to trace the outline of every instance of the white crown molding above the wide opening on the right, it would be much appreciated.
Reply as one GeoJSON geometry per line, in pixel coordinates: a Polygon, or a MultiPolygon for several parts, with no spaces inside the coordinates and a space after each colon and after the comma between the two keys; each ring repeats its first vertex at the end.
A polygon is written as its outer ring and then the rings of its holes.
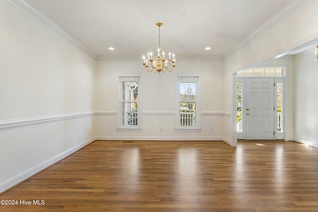
{"type": "Polygon", "coordinates": [[[264,35],[266,32],[268,32],[271,28],[281,23],[286,18],[290,17],[294,13],[296,13],[298,10],[312,2],[313,0],[294,0],[290,4],[288,4],[286,7],[284,7],[280,12],[278,12],[276,15],[274,15],[271,19],[269,19],[266,23],[258,27],[255,31],[250,33],[239,45],[234,47],[231,51],[226,53],[223,56],[223,59],[227,59],[232,54],[237,52],[240,48],[243,46],[246,46],[250,43],[252,43],[257,38],[264,35]]]}

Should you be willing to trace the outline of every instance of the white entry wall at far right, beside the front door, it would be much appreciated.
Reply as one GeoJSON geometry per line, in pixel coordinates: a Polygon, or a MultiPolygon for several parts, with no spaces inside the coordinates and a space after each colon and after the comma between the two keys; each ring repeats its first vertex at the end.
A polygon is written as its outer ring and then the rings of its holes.
{"type": "Polygon", "coordinates": [[[318,61],[314,51],[295,57],[295,141],[318,147],[318,61]]]}

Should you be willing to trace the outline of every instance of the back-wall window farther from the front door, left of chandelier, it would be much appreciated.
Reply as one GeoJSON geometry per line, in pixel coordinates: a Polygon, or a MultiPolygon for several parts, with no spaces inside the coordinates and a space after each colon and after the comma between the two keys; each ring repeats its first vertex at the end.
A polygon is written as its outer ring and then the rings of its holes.
{"type": "Polygon", "coordinates": [[[120,127],[138,127],[139,76],[120,76],[120,127]]]}

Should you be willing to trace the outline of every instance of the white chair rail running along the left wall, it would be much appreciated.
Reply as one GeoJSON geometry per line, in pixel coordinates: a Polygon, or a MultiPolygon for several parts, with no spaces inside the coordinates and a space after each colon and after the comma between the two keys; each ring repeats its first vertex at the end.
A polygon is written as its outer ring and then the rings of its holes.
{"type": "Polygon", "coordinates": [[[32,117],[24,119],[11,119],[11,120],[1,120],[0,121],[0,130],[25,127],[29,125],[37,125],[48,122],[62,121],[66,119],[75,119],[83,116],[92,116],[94,113],[76,113],[76,114],[63,114],[63,115],[54,115],[54,116],[41,116],[41,117],[32,117]]]}

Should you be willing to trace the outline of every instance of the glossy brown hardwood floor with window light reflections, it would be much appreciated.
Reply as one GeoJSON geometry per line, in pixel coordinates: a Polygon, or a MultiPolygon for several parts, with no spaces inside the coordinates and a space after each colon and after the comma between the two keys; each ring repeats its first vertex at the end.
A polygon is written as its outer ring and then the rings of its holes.
{"type": "Polygon", "coordinates": [[[317,212],[318,148],[292,141],[239,141],[237,148],[222,141],[94,141],[0,200],[18,201],[0,205],[1,212],[317,212]]]}

